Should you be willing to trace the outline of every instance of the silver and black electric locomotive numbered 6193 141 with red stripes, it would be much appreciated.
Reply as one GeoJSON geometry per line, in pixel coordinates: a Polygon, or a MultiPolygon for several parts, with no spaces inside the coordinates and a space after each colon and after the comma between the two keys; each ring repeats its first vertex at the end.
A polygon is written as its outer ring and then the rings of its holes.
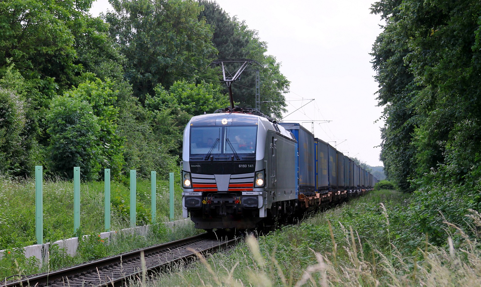
{"type": "Polygon", "coordinates": [[[255,228],[296,211],[297,141],[257,110],[192,117],[183,143],[183,217],[196,228],[255,228]]]}

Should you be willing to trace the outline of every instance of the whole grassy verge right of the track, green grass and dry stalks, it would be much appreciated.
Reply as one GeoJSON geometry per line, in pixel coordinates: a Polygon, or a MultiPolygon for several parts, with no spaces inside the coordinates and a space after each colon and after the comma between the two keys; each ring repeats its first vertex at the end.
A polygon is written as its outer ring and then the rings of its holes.
{"type": "MultiPolygon", "coordinates": [[[[410,248],[402,235],[408,195],[374,191],[258,241],[171,274],[150,286],[480,286],[480,245],[461,230],[445,248],[410,248]],[[382,203],[382,204],[381,204],[382,203]],[[456,244],[456,243],[455,243],[456,244]]],[[[474,215],[480,225],[479,214],[474,215]]],[[[448,230],[448,224],[446,224],[448,230]]]]}

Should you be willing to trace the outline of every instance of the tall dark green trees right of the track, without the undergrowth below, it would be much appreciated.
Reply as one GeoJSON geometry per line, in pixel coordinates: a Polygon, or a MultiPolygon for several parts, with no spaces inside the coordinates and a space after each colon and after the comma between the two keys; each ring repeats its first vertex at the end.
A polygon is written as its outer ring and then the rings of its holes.
{"type": "Polygon", "coordinates": [[[467,170],[480,152],[480,9],[473,0],[373,5],[387,21],[373,49],[385,106],[381,158],[402,190],[439,165],[467,170]]]}

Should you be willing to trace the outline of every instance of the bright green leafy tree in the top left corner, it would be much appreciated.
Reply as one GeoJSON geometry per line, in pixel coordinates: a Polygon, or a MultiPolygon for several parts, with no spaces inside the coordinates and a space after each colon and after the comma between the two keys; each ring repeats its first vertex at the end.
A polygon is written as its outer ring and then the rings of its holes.
{"type": "Polygon", "coordinates": [[[0,73],[6,59],[12,59],[35,91],[29,97],[36,105],[48,107],[51,98],[78,84],[76,77],[82,72],[116,73],[98,68],[119,55],[104,33],[106,26],[88,15],[91,4],[92,0],[0,2],[0,73]]]}

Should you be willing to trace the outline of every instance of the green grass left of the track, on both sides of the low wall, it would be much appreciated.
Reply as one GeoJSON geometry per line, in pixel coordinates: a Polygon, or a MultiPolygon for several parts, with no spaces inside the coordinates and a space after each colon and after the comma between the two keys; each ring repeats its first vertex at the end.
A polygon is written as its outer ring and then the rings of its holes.
{"type": "MultiPolygon", "coordinates": [[[[179,179],[177,179],[178,181],[179,179]]],[[[129,227],[129,194],[126,183],[111,182],[111,230],[129,227]]],[[[175,215],[180,219],[181,190],[175,184],[175,215]]],[[[137,180],[137,225],[151,223],[150,180],[137,180]]],[[[81,183],[80,232],[76,235],[94,235],[80,243],[78,255],[72,258],[58,248],[50,248],[49,265],[39,270],[38,261],[25,259],[19,249],[36,244],[35,234],[35,181],[15,182],[0,177],[0,249],[7,249],[6,256],[0,259],[0,278],[12,274],[33,274],[55,270],[77,263],[118,254],[135,248],[142,248],[174,239],[197,234],[190,222],[173,232],[163,225],[152,228],[149,235],[118,235],[114,244],[99,241],[97,234],[104,231],[104,183],[81,183]],[[11,251],[8,253],[8,251],[11,251]],[[17,266],[18,265],[18,266],[17,266]]],[[[46,181],[43,186],[43,235],[44,242],[54,242],[74,235],[74,194],[73,182],[46,181]]],[[[169,190],[168,181],[157,179],[157,222],[168,221],[169,190]]],[[[23,250],[23,249],[22,249],[23,250]]]]}

